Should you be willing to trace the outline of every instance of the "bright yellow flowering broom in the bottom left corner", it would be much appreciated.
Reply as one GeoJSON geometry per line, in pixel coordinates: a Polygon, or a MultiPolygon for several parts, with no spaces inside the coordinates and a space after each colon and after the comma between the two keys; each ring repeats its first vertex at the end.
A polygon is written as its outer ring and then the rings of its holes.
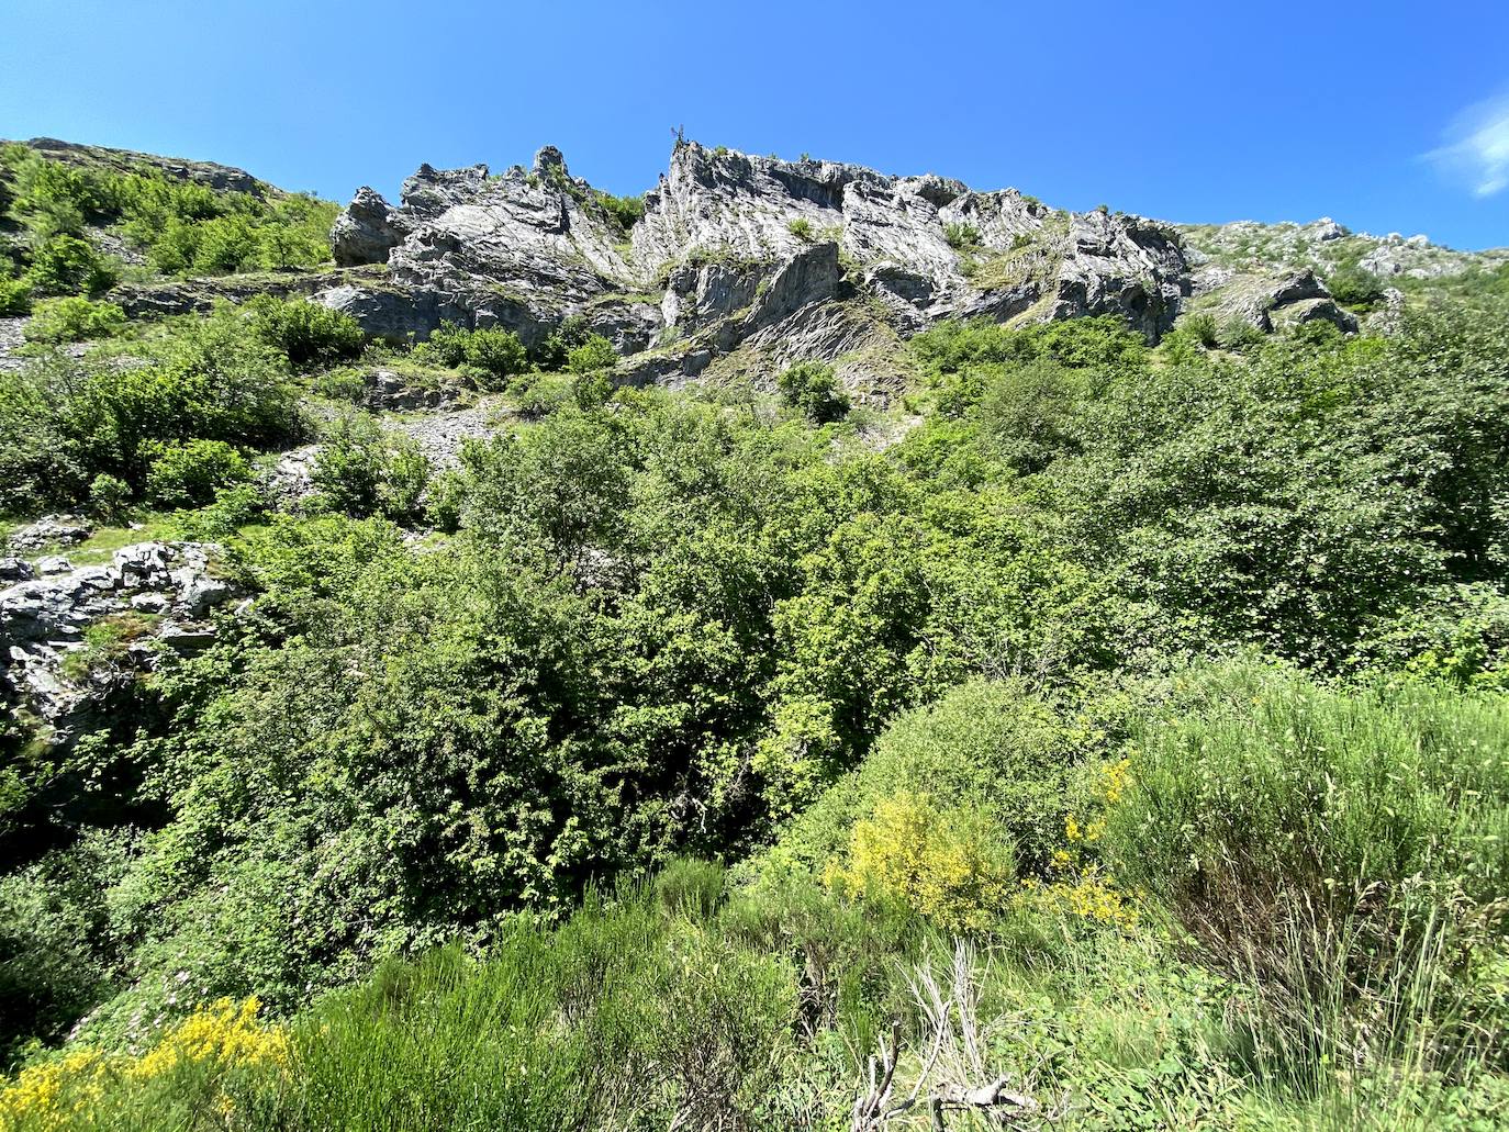
{"type": "Polygon", "coordinates": [[[167,1029],[140,1057],[85,1046],[24,1069],[0,1087],[0,1129],[53,1132],[86,1120],[109,1124],[110,1111],[128,1106],[145,1085],[184,1066],[210,1070],[205,1088],[214,1093],[216,1111],[228,1115],[231,1102],[220,1091],[226,1072],[288,1067],[288,1035],[279,1026],[260,1025],[260,1008],[255,998],[222,998],[167,1029]]]}

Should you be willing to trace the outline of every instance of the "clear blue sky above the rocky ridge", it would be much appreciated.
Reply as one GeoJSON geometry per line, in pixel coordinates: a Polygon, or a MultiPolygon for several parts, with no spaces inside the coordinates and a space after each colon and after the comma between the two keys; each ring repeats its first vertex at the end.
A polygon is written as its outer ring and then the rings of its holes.
{"type": "Polygon", "coordinates": [[[1504,0],[0,0],[0,136],[341,201],[546,142],[640,192],[679,124],[1059,207],[1509,245],[1504,0]]]}

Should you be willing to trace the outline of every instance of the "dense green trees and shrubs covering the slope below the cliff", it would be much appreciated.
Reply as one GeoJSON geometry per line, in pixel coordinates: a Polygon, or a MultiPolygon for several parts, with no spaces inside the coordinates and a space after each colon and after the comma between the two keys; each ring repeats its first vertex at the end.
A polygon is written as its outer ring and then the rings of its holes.
{"type": "Polygon", "coordinates": [[[103,1096],[842,1126],[896,1019],[905,1088],[1014,1075],[1071,1127],[1503,1114],[1500,306],[946,325],[883,448],[827,367],[614,389],[579,323],[445,328],[404,364],[510,426],[438,471],[347,403],[263,515],[299,371],[361,346],[269,303],[0,376],[6,506],[199,507],[252,596],[100,734],[8,747],[14,1064],[255,995],[276,1057],[103,1096]]]}

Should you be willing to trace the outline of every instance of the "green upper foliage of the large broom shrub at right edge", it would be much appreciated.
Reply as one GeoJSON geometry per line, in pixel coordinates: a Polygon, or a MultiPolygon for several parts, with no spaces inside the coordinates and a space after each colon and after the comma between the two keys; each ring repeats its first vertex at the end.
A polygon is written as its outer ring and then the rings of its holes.
{"type": "Polygon", "coordinates": [[[1192,930],[1266,930],[1289,897],[1325,910],[1406,881],[1476,901],[1509,886],[1504,703],[1252,666],[1200,673],[1186,696],[1139,737],[1108,838],[1192,930]]]}

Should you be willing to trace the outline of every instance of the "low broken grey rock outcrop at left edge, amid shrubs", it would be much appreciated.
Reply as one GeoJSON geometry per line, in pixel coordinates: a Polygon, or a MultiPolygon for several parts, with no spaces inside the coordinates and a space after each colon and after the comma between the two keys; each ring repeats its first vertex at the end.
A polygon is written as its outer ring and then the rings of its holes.
{"type": "Polygon", "coordinates": [[[36,571],[0,560],[0,685],[12,709],[45,724],[44,738],[66,744],[101,723],[100,711],[149,670],[163,651],[198,652],[214,641],[210,614],[232,587],[210,568],[214,546],[143,542],[115,552],[109,566],[36,571]],[[109,644],[86,632],[109,625],[109,644]],[[83,663],[69,664],[77,655],[83,663]]]}

